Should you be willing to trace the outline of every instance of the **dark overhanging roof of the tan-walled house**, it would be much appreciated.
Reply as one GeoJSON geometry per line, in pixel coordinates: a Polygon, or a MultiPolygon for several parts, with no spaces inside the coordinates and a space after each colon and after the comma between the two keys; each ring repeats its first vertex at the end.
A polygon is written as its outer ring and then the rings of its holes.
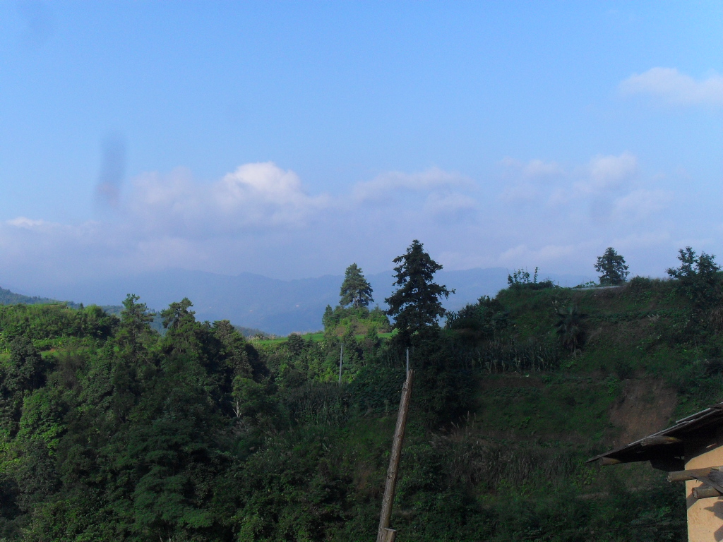
{"type": "Polygon", "coordinates": [[[623,447],[613,449],[588,460],[602,460],[604,465],[650,461],[655,468],[677,470],[685,456],[685,442],[698,441],[715,435],[715,428],[723,426],[723,403],[675,422],[675,425],[645,436],[623,447]]]}

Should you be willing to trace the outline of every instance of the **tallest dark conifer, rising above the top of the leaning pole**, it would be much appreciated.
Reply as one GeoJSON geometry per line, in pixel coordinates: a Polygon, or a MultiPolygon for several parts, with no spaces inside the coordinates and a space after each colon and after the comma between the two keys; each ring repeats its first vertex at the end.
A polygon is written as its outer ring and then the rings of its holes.
{"type": "Polygon", "coordinates": [[[394,268],[394,284],[398,288],[385,301],[389,305],[387,314],[395,319],[395,329],[408,339],[425,328],[438,327],[437,319],[445,314],[441,299],[454,293],[432,281],[442,266],[429,257],[416,239],[394,263],[398,264],[394,268]]]}

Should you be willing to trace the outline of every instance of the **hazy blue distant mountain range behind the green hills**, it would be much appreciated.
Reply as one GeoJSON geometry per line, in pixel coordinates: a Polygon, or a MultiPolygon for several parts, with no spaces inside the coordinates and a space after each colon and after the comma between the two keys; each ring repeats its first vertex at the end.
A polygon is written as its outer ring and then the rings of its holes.
{"type": "MultiPolygon", "coordinates": [[[[507,286],[507,276],[508,270],[493,267],[464,271],[442,270],[435,275],[435,280],[455,289],[456,293],[445,302],[445,308],[457,310],[467,303],[474,303],[480,296],[494,296],[497,291],[507,286]]],[[[591,277],[583,275],[550,275],[549,278],[562,286],[574,286],[591,280],[591,277]]],[[[341,275],[278,280],[252,273],[231,276],[202,271],[168,270],[124,278],[98,278],[82,284],[51,286],[48,291],[42,292],[48,298],[22,296],[0,289],[0,304],[42,303],[55,298],[86,305],[116,306],[117,309],[127,293],[136,293],[147,306],[163,309],[168,304],[187,297],[194,304],[193,310],[196,311],[197,319],[211,322],[228,319],[240,327],[264,330],[275,335],[288,335],[291,332],[321,329],[325,307],[338,304],[342,280],[341,275]],[[4,301],[5,299],[16,301],[4,301]]],[[[367,280],[374,288],[377,303],[386,308],[383,300],[393,291],[393,272],[367,275],[367,280]]]]}

